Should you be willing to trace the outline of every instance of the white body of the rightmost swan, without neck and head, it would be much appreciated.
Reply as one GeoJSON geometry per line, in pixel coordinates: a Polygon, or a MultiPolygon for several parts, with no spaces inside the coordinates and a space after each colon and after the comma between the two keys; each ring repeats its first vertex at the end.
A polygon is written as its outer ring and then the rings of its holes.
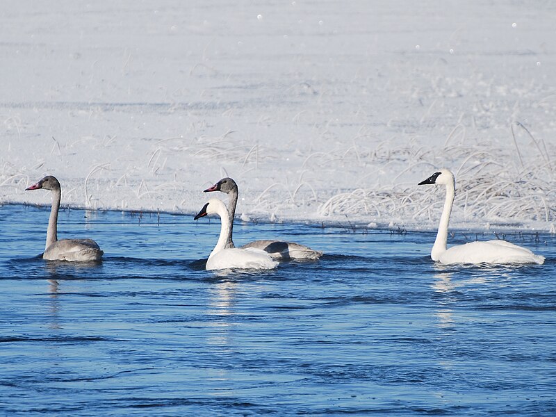
{"type": "Polygon", "coordinates": [[[535,255],[525,247],[514,245],[505,240],[488,240],[452,246],[439,254],[440,263],[544,263],[544,256],[535,255]]]}

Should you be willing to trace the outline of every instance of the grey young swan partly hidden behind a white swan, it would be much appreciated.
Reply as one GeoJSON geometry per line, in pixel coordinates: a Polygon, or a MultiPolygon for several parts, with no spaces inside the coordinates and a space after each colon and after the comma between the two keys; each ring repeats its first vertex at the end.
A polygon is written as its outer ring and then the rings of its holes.
{"type": "MultiPolygon", "coordinates": [[[[230,234],[226,241],[226,247],[235,247],[232,240],[232,233],[234,229],[234,217],[236,215],[236,206],[238,204],[238,185],[236,181],[231,178],[222,178],[218,183],[215,183],[211,188],[204,190],[204,193],[211,193],[212,191],[220,191],[226,193],[229,197],[229,222],[231,224],[230,234]]],[[[247,245],[242,246],[244,249],[255,248],[268,252],[272,259],[278,261],[286,261],[290,259],[305,259],[316,260],[322,256],[322,252],[313,250],[305,245],[299,243],[286,242],[284,240],[254,240],[247,245]]]]}

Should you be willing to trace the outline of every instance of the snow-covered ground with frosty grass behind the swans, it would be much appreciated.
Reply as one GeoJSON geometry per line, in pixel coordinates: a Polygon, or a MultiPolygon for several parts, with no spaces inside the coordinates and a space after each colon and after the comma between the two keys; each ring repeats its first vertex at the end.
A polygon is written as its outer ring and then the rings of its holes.
{"type": "MultiPolygon", "coordinates": [[[[6,1],[0,203],[197,213],[233,177],[273,222],[548,231],[556,4],[6,1]]],[[[222,195],[222,198],[225,197],[222,195]]]]}

